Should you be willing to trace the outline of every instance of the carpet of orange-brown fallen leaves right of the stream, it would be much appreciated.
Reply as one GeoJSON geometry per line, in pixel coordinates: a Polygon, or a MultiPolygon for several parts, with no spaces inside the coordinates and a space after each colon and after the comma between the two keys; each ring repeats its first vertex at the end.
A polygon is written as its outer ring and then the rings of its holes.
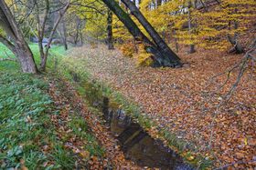
{"type": "MultiPolygon", "coordinates": [[[[240,62],[242,55],[216,51],[179,54],[187,63],[183,68],[151,68],[136,66],[131,58],[104,46],[74,48],[69,57],[83,65],[92,77],[135,101],[144,115],[157,127],[147,129],[154,136],[165,128],[179,139],[194,144],[195,153],[215,160],[221,167],[255,167],[256,159],[256,84],[255,65],[249,65],[228,103],[220,105],[223,95],[236,81],[238,69],[219,75],[240,62]]],[[[75,67],[75,65],[73,65],[75,67]]],[[[195,154],[195,155],[194,155],[195,154]]]]}

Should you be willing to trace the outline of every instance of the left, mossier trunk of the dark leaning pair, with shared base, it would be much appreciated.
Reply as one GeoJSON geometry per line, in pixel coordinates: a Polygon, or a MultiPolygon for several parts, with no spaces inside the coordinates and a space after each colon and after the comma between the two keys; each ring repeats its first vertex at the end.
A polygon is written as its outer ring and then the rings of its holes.
{"type": "MultiPolygon", "coordinates": [[[[136,41],[143,41],[145,50],[153,55],[153,59],[155,61],[155,66],[178,66],[180,64],[179,58],[173,53],[175,56],[172,55],[166,55],[167,53],[164,53],[163,49],[161,49],[159,46],[161,45],[155,45],[153,42],[151,42],[138,28],[138,26],[133,22],[133,19],[126,14],[123,9],[112,0],[102,0],[102,2],[107,5],[112,12],[117,15],[117,17],[123,22],[123,25],[128,29],[128,31],[133,35],[133,37],[136,39],[136,41]],[[174,57],[174,60],[171,60],[170,58],[174,57]],[[157,65],[156,65],[157,64],[157,65]]],[[[132,3],[133,4],[133,3],[132,3]]]]}

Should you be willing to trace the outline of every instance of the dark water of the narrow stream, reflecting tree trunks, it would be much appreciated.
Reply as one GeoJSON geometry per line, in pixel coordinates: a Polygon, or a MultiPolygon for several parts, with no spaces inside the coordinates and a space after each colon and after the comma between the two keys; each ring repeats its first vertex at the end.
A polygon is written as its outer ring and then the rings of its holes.
{"type": "Polygon", "coordinates": [[[104,119],[113,135],[118,139],[126,159],[136,165],[149,168],[170,170],[193,170],[183,162],[182,157],[165,147],[159,140],[153,139],[144,129],[122,109],[109,107],[109,99],[104,98],[102,105],[104,119]]]}

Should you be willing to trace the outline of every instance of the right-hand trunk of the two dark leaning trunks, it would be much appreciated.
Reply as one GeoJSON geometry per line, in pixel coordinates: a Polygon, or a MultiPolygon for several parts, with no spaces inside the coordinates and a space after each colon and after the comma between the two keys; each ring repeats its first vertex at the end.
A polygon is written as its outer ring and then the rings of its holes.
{"type": "Polygon", "coordinates": [[[175,65],[181,65],[179,62],[179,57],[170,49],[168,45],[166,45],[165,41],[161,36],[155,31],[154,27],[150,25],[150,23],[146,20],[144,15],[140,12],[136,5],[134,5],[130,0],[122,0],[123,4],[126,5],[132,15],[134,15],[141,25],[144,26],[144,29],[147,33],[152,37],[155,45],[159,48],[162,55],[165,55],[170,60],[170,63],[175,65]]]}

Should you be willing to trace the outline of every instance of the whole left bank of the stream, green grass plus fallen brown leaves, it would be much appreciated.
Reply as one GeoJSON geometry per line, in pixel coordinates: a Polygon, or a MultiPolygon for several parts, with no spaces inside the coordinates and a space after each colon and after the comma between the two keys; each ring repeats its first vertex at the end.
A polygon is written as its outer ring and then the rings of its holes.
{"type": "MultiPolygon", "coordinates": [[[[37,60],[37,45],[30,47],[37,60]]],[[[0,49],[0,57],[14,57],[0,49]]],[[[59,46],[54,53],[64,54],[59,46]]],[[[0,62],[0,169],[139,169],[53,63],[48,73],[27,75],[14,61],[0,62]]]]}

